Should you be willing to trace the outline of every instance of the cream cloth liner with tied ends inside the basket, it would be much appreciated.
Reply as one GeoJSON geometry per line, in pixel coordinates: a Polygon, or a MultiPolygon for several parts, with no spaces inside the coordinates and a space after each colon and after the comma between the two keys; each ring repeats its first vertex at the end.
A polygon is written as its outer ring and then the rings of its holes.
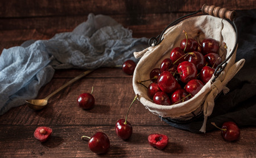
{"type": "MultiPolygon", "coordinates": [[[[234,63],[236,60],[236,51],[228,60],[228,65],[226,65],[225,70],[221,72],[216,81],[211,83],[209,80],[200,92],[184,103],[172,106],[154,104],[147,96],[147,89],[141,84],[136,83],[137,80],[148,79],[152,69],[159,67],[164,58],[170,58],[170,51],[176,46],[179,46],[180,41],[185,38],[183,30],[188,33],[189,38],[196,39],[197,32],[200,30],[200,41],[203,41],[206,37],[219,41],[219,54],[224,54],[222,55],[222,61],[228,57],[236,44],[236,32],[232,25],[224,19],[210,15],[201,15],[185,19],[179,24],[167,29],[163,36],[164,40],[159,45],[150,46],[141,52],[134,52],[135,58],[141,57],[141,59],[134,71],[133,88],[134,92],[139,94],[138,100],[150,110],[151,113],[161,117],[179,118],[180,116],[185,116],[195,111],[204,104],[204,123],[200,131],[205,132],[207,117],[212,114],[215,97],[221,91],[224,93],[229,91],[226,84],[236,75],[245,62],[245,59],[241,59],[234,63]],[[224,42],[228,46],[228,49],[224,49],[224,42]]],[[[150,82],[144,84],[148,86],[150,82]]]]}

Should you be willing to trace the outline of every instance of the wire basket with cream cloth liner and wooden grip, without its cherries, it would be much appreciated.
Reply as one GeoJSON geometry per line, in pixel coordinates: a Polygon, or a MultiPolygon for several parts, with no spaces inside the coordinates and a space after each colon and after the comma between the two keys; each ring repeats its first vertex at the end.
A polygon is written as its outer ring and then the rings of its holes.
{"type": "MultiPolygon", "coordinates": [[[[237,50],[237,29],[234,24],[234,11],[226,8],[204,5],[199,11],[185,15],[168,25],[161,35],[152,37],[148,48],[141,52],[134,52],[135,58],[141,58],[133,75],[134,92],[139,95],[138,100],[151,113],[168,118],[175,122],[188,122],[204,114],[204,123],[200,131],[205,132],[205,123],[214,107],[214,99],[220,92],[228,92],[225,87],[230,79],[241,69],[244,59],[235,63],[237,50]],[[203,14],[199,14],[203,12],[203,14]],[[205,15],[207,13],[207,15],[205,15]],[[196,15],[196,16],[195,16],[196,15]],[[147,96],[147,89],[138,84],[138,80],[149,78],[150,71],[160,66],[164,58],[170,58],[170,51],[179,46],[184,39],[185,30],[189,38],[195,39],[200,31],[199,40],[212,38],[220,45],[219,54],[222,63],[216,67],[212,79],[191,99],[171,106],[158,105],[147,96]],[[228,49],[224,47],[228,46],[228,49]]],[[[150,82],[144,83],[147,87],[150,82]]]]}

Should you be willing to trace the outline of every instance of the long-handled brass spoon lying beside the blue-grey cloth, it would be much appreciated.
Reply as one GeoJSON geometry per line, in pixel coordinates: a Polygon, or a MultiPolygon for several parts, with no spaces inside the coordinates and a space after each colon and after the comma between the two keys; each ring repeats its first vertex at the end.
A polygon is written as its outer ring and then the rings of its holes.
{"type": "Polygon", "coordinates": [[[82,72],[82,74],[76,76],[76,78],[73,78],[72,80],[70,80],[69,82],[65,83],[63,86],[61,86],[60,88],[58,88],[56,91],[54,91],[53,93],[51,93],[50,95],[48,95],[45,99],[32,99],[32,100],[26,100],[26,104],[28,107],[30,107],[33,110],[41,110],[44,108],[44,106],[47,105],[48,103],[48,99],[50,97],[52,97],[53,95],[55,95],[57,92],[61,91],[62,89],[64,89],[65,87],[67,87],[69,84],[75,82],[76,80],[79,80],[80,78],[82,78],[83,76],[89,74],[90,72],[92,72],[93,70],[87,70],[85,72],[82,72]]]}

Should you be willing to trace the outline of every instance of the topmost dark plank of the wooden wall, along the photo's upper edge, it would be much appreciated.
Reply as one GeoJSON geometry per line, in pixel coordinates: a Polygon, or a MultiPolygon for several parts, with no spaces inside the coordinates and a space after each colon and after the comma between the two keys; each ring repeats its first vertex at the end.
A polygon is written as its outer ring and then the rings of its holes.
{"type": "Polygon", "coordinates": [[[3,1],[0,4],[0,17],[31,17],[31,16],[67,16],[94,14],[125,16],[144,16],[146,14],[162,14],[166,12],[192,12],[199,10],[204,3],[229,8],[229,10],[245,10],[255,8],[255,1],[145,1],[145,0],[95,0],[95,1],[3,1]]]}

